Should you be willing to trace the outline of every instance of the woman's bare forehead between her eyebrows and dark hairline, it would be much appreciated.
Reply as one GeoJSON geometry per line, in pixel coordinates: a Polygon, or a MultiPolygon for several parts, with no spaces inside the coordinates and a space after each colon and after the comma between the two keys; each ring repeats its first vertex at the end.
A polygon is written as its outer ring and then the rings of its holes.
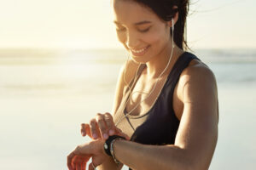
{"type": "Polygon", "coordinates": [[[160,21],[150,8],[140,3],[132,0],[113,0],[113,21],[116,24],[132,25],[142,20],[160,21]]]}

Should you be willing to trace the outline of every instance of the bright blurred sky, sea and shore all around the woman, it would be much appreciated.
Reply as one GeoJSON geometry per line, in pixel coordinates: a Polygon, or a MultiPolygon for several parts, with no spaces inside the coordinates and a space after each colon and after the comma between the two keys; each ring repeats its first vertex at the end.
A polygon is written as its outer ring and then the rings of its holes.
{"type": "MultiPolygon", "coordinates": [[[[210,169],[256,167],[255,6],[191,1],[189,47],[218,81],[210,169]]],[[[67,155],[89,141],[80,123],[111,111],[125,59],[110,0],[0,0],[1,168],[67,169],[67,155]]]]}

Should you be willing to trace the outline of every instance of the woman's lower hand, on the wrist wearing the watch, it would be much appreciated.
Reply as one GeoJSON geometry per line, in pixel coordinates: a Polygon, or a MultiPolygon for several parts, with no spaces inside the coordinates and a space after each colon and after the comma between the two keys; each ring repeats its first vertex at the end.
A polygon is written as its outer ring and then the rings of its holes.
{"type": "MultiPolygon", "coordinates": [[[[107,160],[108,155],[105,153],[103,144],[105,140],[97,139],[89,143],[80,144],[67,156],[67,167],[69,170],[85,170],[87,162],[92,158],[94,166],[101,165],[107,160]]],[[[92,163],[89,170],[94,170],[92,163]]]]}

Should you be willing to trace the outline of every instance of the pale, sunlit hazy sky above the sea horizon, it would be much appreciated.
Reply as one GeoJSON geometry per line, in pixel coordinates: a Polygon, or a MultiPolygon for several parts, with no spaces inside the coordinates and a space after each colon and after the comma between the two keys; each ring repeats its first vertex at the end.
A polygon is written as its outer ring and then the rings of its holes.
{"type": "MultiPolygon", "coordinates": [[[[255,0],[193,0],[191,48],[256,48],[255,0]]],[[[0,48],[123,48],[110,0],[0,0],[0,48]]]]}

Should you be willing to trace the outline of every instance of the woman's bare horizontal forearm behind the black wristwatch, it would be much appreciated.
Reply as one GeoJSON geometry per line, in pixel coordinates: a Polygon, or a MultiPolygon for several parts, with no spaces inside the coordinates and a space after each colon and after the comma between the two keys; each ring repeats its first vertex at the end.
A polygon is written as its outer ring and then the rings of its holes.
{"type": "Polygon", "coordinates": [[[175,145],[147,145],[118,140],[113,144],[116,158],[132,169],[193,169],[187,151],[175,145]]]}

